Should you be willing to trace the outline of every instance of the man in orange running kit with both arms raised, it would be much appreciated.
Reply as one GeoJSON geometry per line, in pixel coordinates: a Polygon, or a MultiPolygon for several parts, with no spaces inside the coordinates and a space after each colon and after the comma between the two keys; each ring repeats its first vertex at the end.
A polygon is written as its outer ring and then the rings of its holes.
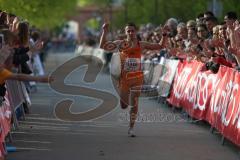
{"type": "Polygon", "coordinates": [[[135,137],[133,127],[137,118],[138,97],[141,89],[138,92],[131,93],[131,97],[130,89],[133,87],[141,88],[143,85],[143,72],[141,71],[142,50],[161,50],[166,41],[166,33],[163,34],[160,43],[139,41],[136,25],[128,23],[125,26],[126,39],[107,41],[106,36],[109,31],[109,24],[104,23],[102,29],[100,48],[107,51],[112,51],[116,48],[119,50],[121,60],[121,75],[119,79],[120,105],[122,109],[126,109],[128,105],[131,106],[128,135],[135,137]],[[129,99],[131,104],[129,104],[129,99]]]}

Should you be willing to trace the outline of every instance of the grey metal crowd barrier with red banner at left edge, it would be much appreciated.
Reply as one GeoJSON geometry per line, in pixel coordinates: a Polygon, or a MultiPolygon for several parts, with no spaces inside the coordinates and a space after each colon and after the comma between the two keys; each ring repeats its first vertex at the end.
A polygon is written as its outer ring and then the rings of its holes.
{"type": "Polygon", "coordinates": [[[23,105],[28,103],[28,94],[22,82],[7,80],[6,89],[5,100],[0,106],[0,158],[7,154],[6,137],[12,141],[11,128],[19,128],[17,109],[21,109],[21,116],[25,117],[23,105]]]}

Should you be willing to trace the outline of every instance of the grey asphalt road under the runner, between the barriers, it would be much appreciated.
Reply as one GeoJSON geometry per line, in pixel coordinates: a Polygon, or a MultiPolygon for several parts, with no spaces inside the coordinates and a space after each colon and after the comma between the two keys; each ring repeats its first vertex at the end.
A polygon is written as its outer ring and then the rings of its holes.
{"type": "MultiPolygon", "coordinates": [[[[53,54],[47,68],[52,70],[71,54],[53,54]]],[[[82,82],[86,67],[71,73],[66,83],[114,91],[110,76],[102,72],[95,83],[82,82]]],[[[16,152],[7,160],[238,160],[239,148],[221,136],[210,133],[204,122],[191,123],[181,111],[173,112],[155,99],[140,99],[140,116],[136,124],[137,137],[127,136],[128,110],[117,106],[112,112],[88,122],[66,122],[55,117],[56,103],[73,98],[73,113],[92,109],[99,100],[59,94],[46,84],[39,84],[31,95],[31,113],[13,131],[11,144],[16,152]]]]}

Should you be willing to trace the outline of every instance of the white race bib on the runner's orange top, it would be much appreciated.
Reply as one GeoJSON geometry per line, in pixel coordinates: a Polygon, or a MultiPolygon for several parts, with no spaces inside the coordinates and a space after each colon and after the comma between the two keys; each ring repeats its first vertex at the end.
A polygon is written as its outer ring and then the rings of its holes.
{"type": "Polygon", "coordinates": [[[124,64],[124,70],[131,71],[139,71],[140,70],[140,59],[139,58],[127,58],[124,64]]]}

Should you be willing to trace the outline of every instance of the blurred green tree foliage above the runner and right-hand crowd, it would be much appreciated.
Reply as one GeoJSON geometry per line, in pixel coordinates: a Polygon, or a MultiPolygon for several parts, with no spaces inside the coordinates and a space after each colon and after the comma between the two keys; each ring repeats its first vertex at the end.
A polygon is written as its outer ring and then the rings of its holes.
{"type": "Polygon", "coordinates": [[[164,23],[175,17],[181,21],[195,19],[207,10],[208,0],[125,0],[124,12],[116,14],[115,23],[122,25],[127,21],[137,24],[164,23]]]}

